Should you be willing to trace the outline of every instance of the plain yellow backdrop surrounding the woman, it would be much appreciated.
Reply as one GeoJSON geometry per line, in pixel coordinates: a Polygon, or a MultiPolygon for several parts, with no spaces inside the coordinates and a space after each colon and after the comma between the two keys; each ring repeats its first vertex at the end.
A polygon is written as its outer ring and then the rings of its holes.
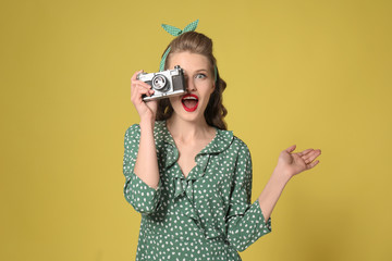
{"type": "Polygon", "coordinates": [[[392,260],[391,13],[387,0],[1,1],[0,260],[135,259],[130,78],[158,70],[161,23],[196,18],[252,151],[253,199],[281,150],[322,150],[242,258],[392,260]]]}

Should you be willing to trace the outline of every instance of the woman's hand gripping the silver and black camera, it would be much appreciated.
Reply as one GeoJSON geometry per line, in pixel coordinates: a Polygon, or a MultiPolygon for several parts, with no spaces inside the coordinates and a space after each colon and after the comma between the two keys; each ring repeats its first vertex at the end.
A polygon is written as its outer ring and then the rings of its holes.
{"type": "Polygon", "coordinates": [[[134,73],[131,78],[131,101],[136,108],[140,121],[148,120],[154,122],[157,114],[158,101],[152,100],[145,102],[143,100],[143,95],[151,96],[154,90],[150,85],[136,78],[139,73],[143,73],[143,70],[134,73]]]}

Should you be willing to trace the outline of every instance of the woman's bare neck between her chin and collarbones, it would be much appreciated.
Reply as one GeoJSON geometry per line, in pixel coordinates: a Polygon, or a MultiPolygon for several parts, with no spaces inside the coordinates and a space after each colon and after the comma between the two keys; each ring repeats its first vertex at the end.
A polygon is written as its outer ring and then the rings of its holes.
{"type": "Polygon", "coordinates": [[[198,122],[188,122],[175,116],[175,114],[167,120],[167,126],[173,138],[183,142],[210,139],[216,132],[205,119],[198,122]]]}

